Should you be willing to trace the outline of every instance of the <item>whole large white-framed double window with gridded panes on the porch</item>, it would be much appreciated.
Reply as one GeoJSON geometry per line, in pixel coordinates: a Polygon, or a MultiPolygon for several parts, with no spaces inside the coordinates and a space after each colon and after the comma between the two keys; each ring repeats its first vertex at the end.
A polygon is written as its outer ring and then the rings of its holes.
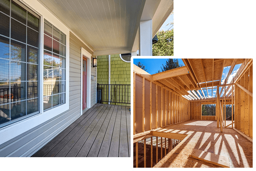
{"type": "MultiPolygon", "coordinates": [[[[58,19],[56,18],[51,12],[48,11],[39,1],[30,1],[30,0],[1,0],[0,1],[0,14],[3,15],[5,18],[9,17],[9,25],[2,24],[2,20],[4,18],[0,17],[0,36],[2,36],[2,41],[0,42],[0,55],[6,54],[6,50],[9,48],[9,52],[11,52],[11,47],[18,47],[19,49],[19,55],[16,55],[16,58],[12,59],[12,53],[8,56],[8,59],[5,59],[4,57],[0,57],[1,64],[8,63],[8,67],[3,67],[2,73],[8,73],[8,79],[1,78],[1,83],[8,82],[9,83],[9,101],[8,104],[2,104],[3,105],[9,105],[9,108],[7,110],[13,110],[12,104],[20,103],[20,107],[16,109],[17,113],[20,114],[23,111],[23,115],[16,118],[16,120],[12,120],[8,123],[0,123],[0,144],[48,121],[49,119],[52,119],[56,117],[57,115],[67,111],[69,109],[69,32],[70,30],[58,19]],[[10,3],[10,6],[8,6],[8,2],[10,3]],[[13,5],[15,4],[15,5],[13,5]],[[12,6],[13,5],[13,6],[12,6]],[[9,7],[9,15],[8,10],[9,7]],[[26,16],[20,17],[17,19],[15,15],[12,15],[12,7],[16,7],[15,9],[23,9],[26,10],[26,12],[23,12],[21,10],[17,11],[18,17],[20,16],[26,16]],[[35,10],[36,9],[36,10],[35,10]],[[23,14],[23,15],[22,15],[23,14]],[[38,18],[38,24],[36,24],[36,18],[38,18]],[[23,21],[23,20],[24,21],[23,21]],[[13,22],[12,22],[13,21],[13,22]],[[31,22],[30,22],[31,21],[31,22]],[[48,22],[52,25],[52,37],[51,41],[52,45],[52,51],[49,49],[44,48],[44,35],[45,35],[45,22],[48,22]],[[11,24],[10,24],[11,23],[11,24]],[[23,23],[23,24],[22,24],[23,23]],[[14,28],[12,27],[12,24],[18,24],[19,27],[16,28],[16,32],[21,32],[22,27],[25,27],[25,33],[26,36],[22,34],[16,35],[16,37],[12,37],[12,32],[14,32],[14,28]],[[35,27],[35,25],[38,27],[35,27]],[[4,30],[3,30],[3,29],[4,30]],[[5,35],[8,33],[6,31],[9,29],[9,36],[5,35]],[[2,34],[5,33],[5,34],[2,34]],[[10,34],[11,33],[11,34],[10,34]],[[37,33],[37,34],[36,34],[37,33]],[[59,33],[59,39],[56,37],[59,33]],[[36,37],[36,36],[37,37],[36,37]],[[31,37],[31,38],[29,38],[31,37]],[[35,38],[36,37],[36,38],[35,38]],[[9,43],[7,39],[9,38],[9,43]],[[23,40],[25,39],[25,40],[23,40]],[[23,42],[24,41],[24,42],[23,42]],[[12,43],[13,42],[13,43],[12,43]],[[1,45],[2,43],[2,45],[1,45]],[[3,45],[3,43],[5,43],[3,45]],[[16,43],[16,44],[15,44],[16,43]],[[23,45],[24,44],[24,45],[23,45]],[[59,45],[59,48],[55,45],[59,45]],[[23,51],[22,51],[22,47],[23,51]],[[8,48],[6,48],[8,47],[8,48]],[[61,49],[62,48],[62,49],[61,49]],[[25,49],[25,50],[24,50],[25,49]],[[51,65],[44,65],[44,50],[47,50],[47,52],[51,53],[51,65]],[[59,51],[58,51],[59,50],[59,51]],[[25,55],[24,55],[25,54],[25,55]],[[30,55],[32,54],[32,55],[30,55]],[[35,54],[38,56],[36,57],[35,54]],[[23,56],[22,56],[23,55],[23,56]],[[28,56],[31,56],[28,58],[28,56]],[[52,61],[55,62],[54,65],[52,65],[52,61]],[[57,62],[56,62],[57,61],[57,62]],[[11,68],[11,62],[16,62],[20,64],[19,66],[11,68]],[[25,65],[25,66],[23,66],[25,65]],[[51,68],[45,68],[44,66],[51,67],[51,68]],[[17,74],[13,74],[15,71],[14,69],[17,68],[19,72],[17,74]],[[23,69],[22,69],[23,68],[23,69]],[[50,72],[58,70],[53,75],[48,75],[46,77],[50,77],[55,79],[58,83],[53,83],[54,81],[44,80],[44,71],[47,72],[46,69],[51,69],[50,72]],[[12,74],[10,74],[12,73],[12,74]],[[11,77],[10,75],[15,75],[15,77],[11,77]],[[18,75],[18,76],[16,76],[18,75]],[[17,77],[17,78],[16,78],[17,77]],[[58,78],[56,78],[58,77],[58,78]],[[12,79],[10,79],[12,78],[12,79]],[[6,79],[6,80],[5,80],[6,79]],[[11,81],[13,80],[13,81],[11,81]],[[11,82],[18,82],[20,83],[18,91],[18,97],[16,98],[17,101],[11,101],[12,95],[11,95],[11,88],[10,84],[11,82]],[[44,82],[51,82],[51,90],[52,93],[50,95],[44,95],[45,87],[44,82]],[[33,83],[33,84],[32,84],[33,83]],[[22,85],[23,84],[23,85],[22,85]],[[59,84],[59,85],[58,85],[59,84]],[[57,89],[54,89],[52,85],[58,85],[57,89]],[[23,90],[22,90],[23,89],[23,90]],[[36,91],[35,91],[36,90],[36,91]],[[29,93],[30,92],[30,93],[29,93]],[[33,96],[32,96],[32,95],[33,96]],[[48,98],[48,104],[50,102],[50,105],[48,105],[48,108],[46,109],[46,105],[44,105],[44,97],[46,96],[52,96],[51,100],[48,98]],[[58,97],[58,98],[57,98],[58,97]],[[30,102],[33,102],[33,104],[30,102]],[[49,107],[50,106],[50,107],[49,107]],[[33,107],[32,110],[29,107],[33,107]],[[45,107],[45,109],[44,109],[45,107]],[[26,110],[25,110],[26,109],[26,110]],[[26,111],[26,115],[24,115],[24,111],[26,111]],[[13,122],[12,122],[13,121],[13,122]]],[[[5,22],[8,22],[8,19],[5,19],[5,22]]],[[[15,35],[15,34],[13,34],[15,35]]],[[[50,36],[48,35],[48,38],[50,36]]],[[[13,55],[15,57],[15,55],[13,55]]],[[[15,65],[14,65],[15,66],[15,65]]],[[[49,71],[48,71],[49,72],[49,71]]],[[[3,74],[2,74],[3,75],[3,74]]],[[[1,76],[0,76],[1,77],[1,76]]],[[[17,87],[18,85],[16,85],[17,87]]],[[[13,97],[14,98],[14,97],[13,97]]],[[[17,105],[16,105],[17,106],[17,105]]],[[[10,111],[9,111],[10,113],[10,111]]],[[[11,115],[12,116],[12,115],[11,115]]],[[[18,115],[19,116],[19,115],[18,115]]]]}

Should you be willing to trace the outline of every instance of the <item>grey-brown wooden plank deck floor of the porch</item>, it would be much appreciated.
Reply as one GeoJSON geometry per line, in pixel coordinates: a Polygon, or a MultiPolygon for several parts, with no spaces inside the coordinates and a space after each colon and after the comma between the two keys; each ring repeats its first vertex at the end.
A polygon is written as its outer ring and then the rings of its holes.
{"type": "Polygon", "coordinates": [[[95,104],[32,157],[130,157],[129,109],[95,104]]]}

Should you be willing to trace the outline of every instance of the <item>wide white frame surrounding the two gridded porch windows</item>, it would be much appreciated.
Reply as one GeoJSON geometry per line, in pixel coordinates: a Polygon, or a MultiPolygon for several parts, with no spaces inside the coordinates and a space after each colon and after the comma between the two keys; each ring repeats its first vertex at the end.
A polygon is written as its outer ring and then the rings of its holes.
{"type": "Polygon", "coordinates": [[[51,12],[48,11],[39,1],[29,0],[13,0],[14,2],[25,5],[33,13],[40,16],[39,23],[39,58],[38,58],[38,93],[39,93],[39,113],[34,115],[26,115],[21,117],[20,120],[14,123],[3,123],[3,127],[0,128],[0,144],[31,130],[44,122],[57,117],[59,114],[69,110],[69,33],[70,30],[64,25],[58,18],[55,17],[51,12]],[[36,10],[35,10],[36,9],[36,10]],[[44,111],[43,109],[43,52],[44,52],[44,20],[49,21],[52,25],[58,28],[66,35],[66,103],[55,107],[53,109],[44,111]]]}

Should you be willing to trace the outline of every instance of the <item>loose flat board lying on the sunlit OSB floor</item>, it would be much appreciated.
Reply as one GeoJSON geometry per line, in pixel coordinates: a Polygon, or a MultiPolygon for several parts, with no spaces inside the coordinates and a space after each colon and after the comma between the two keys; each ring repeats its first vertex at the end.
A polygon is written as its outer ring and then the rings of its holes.
{"type": "Polygon", "coordinates": [[[202,150],[194,149],[189,157],[207,161],[209,163],[221,166],[221,167],[228,167],[229,168],[229,159],[226,156],[221,156],[214,153],[209,153],[202,150]]]}

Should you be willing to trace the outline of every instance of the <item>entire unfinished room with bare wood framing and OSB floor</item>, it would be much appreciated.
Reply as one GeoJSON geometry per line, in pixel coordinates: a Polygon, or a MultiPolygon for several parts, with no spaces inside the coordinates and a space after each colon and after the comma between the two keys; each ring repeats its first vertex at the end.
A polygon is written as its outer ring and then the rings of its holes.
{"type": "Polygon", "coordinates": [[[133,167],[255,167],[254,59],[182,61],[133,65],[133,167]]]}

